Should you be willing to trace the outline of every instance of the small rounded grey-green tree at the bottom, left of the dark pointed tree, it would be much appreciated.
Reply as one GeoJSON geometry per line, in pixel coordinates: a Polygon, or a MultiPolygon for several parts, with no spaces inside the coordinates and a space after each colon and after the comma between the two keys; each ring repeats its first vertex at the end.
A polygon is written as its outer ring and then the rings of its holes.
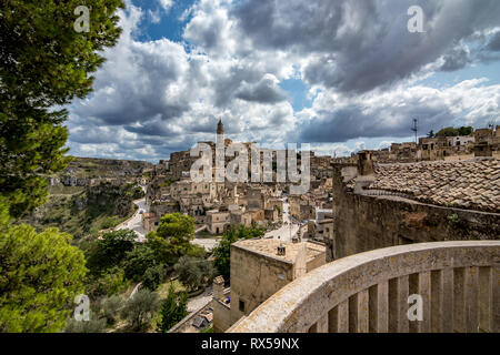
{"type": "Polygon", "coordinates": [[[158,294],[149,290],[140,290],[121,311],[122,317],[128,320],[133,331],[143,329],[160,306],[158,294]]]}

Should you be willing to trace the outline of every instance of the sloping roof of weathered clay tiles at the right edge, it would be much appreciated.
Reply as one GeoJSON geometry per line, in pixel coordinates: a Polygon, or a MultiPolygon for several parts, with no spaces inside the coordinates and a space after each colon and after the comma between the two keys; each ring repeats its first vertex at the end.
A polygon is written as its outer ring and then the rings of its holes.
{"type": "Polygon", "coordinates": [[[500,213],[500,161],[379,164],[369,190],[402,193],[418,201],[500,213]]]}

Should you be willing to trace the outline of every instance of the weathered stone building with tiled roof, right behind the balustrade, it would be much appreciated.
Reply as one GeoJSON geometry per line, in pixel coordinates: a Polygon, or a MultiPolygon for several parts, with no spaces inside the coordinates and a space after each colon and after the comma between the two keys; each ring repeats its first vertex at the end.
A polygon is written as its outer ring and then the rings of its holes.
{"type": "MultiPolygon", "coordinates": [[[[370,164],[364,162],[363,164],[370,164]]],[[[329,260],[400,244],[500,236],[500,162],[334,165],[329,260]]]]}

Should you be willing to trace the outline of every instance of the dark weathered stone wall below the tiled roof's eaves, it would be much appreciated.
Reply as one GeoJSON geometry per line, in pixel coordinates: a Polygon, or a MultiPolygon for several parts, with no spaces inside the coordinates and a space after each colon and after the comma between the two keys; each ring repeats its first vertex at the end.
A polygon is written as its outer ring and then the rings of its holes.
{"type": "Polygon", "coordinates": [[[334,169],[333,201],[333,237],[326,241],[327,261],[401,244],[500,236],[500,214],[348,192],[340,165],[334,169]]]}

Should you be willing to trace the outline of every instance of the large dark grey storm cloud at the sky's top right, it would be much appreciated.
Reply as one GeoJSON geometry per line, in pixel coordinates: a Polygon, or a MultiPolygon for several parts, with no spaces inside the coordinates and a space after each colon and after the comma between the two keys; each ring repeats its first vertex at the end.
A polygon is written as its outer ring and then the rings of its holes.
{"type": "MultiPolygon", "coordinates": [[[[498,26],[500,1],[247,0],[232,13],[257,48],[314,53],[303,69],[308,83],[366,92],[408,78],[474,31],[498,26]],[[414,4],[423,8],[426,33],[407,29],[414,4]]],[[[443,69],[458,68],[457,59],[443,69]]]]}

